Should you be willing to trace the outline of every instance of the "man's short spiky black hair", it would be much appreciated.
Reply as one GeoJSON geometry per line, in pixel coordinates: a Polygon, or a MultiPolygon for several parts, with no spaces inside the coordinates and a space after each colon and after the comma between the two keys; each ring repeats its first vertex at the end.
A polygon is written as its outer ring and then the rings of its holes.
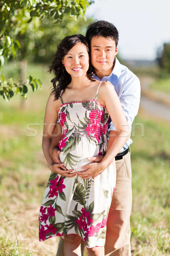
{"type": "Polygon", "coordinates": [[[116,43],[116,47],[119,41],[119,32],[116,27],[112,23],[105,20],[98,20],[94,23],[91,23],[88,26],[85,36],[90,44],[93,37],[99,36],[113,39],[116,43]]]}

